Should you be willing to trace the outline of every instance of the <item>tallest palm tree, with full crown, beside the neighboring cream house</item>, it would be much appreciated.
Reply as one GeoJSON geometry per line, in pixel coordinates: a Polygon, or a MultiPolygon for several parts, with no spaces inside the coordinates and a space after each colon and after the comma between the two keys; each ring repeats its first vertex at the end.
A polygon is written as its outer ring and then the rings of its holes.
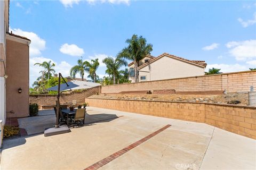
{"type": "Polygon", "coordinates": [[[153,50],[153,45],[147,44],[147,40],[145,38],[142,36],[138,37],[137,35],[133,35],[131,39],[127,39],[126,43],[129,44],[128,47],[122,49],[121,52],[118,53],[118,57],[133,60],[135,82],[138,82],[139,61],[147,55],[150,55],[150,52],[153,50]]]}

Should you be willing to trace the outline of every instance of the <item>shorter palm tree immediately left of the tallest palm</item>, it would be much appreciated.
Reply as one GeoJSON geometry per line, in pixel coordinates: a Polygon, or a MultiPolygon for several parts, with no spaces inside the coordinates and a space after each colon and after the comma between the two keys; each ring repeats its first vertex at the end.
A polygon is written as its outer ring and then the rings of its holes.
{"type": "MultiPolygon", "coordinates": [[[[112,57],[107,57],[102,62],[105,63],[107,66],[106,73],[113,75],[113,83],[115,84],[116,78],[119,74],[118,70],[123,65],[126,66],[127,62],[124,60],[124,58],[121,57],[116,57],[115,59],[112,57]]],[[[119,79],[117,80],[117,82],[119,83],[119,79]]]]}

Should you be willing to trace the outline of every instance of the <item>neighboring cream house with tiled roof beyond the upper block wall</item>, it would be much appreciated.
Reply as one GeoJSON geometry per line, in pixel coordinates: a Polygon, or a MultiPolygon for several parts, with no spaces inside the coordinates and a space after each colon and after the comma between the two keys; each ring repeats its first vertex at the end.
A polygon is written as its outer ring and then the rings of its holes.
{"type": "MultiPolygon", "coordinates": [[[[204,75],[205,61],[187,60],[163,53],[158,57],[146,56],[139,62],[139,81],[164,80],[204,75]]],[[[129,80],[135,82],[134,63],[129,65],[129,80]]]]}

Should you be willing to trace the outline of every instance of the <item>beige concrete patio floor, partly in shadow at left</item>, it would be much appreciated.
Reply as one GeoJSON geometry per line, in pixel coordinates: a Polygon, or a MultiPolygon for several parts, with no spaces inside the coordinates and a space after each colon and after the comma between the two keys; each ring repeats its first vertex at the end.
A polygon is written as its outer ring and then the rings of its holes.
{"type": "Polygon", "coordinates": [[[85,126],[44,137],[54,123],[52,111],[20,118],[29,136],[4,141],[1,169],[85,169],[168,124],[99,169],[256,168],[256,140],[204,123],[88,107],[85,126]]]}

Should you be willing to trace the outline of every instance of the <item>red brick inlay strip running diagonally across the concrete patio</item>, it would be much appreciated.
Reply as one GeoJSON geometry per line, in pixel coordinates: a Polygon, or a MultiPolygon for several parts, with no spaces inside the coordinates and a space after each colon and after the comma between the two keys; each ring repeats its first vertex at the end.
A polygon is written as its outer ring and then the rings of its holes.
{"type": "Polygon", "coordinates": [[[99,162],[97,162],[97,163],[95,163],[95,164],[93,164],[93,165],[91,165],[91,166],[85,168],[84,170],[95,170],[95,169],[100,168],[101,166],[104,166],[104,165],[108,164],[108,163],[111,162],[112,160],[114,160],[114,159],[118,158],[119,156],[125,154],[127,151],[129,151],[129,150],[131,150],[131,149],[133,149],[133,148],[139,146],[141,143],[143,143],[143,142],[149,140],[150,138],[154,137],[154,136],[157,135],[158,133],[163,132],[165,129],[169,128],[170,126],[171,126],[170,124],[164,126],[163,128],[161,128],[161,129],[155,131],[154,133],[149,134],[147,137],[142,138],[142,139],[138,140],[138,141],[135,142],[135,143],[132,143],[131,145],[127,146],[126,148],[121,149],[121,150],[115,152],[114,154],[112,154],[112,155],[110,155],[110,156],[108,156],[108,157],[106,157],[106,158],[100,160],[99,162]]]}

